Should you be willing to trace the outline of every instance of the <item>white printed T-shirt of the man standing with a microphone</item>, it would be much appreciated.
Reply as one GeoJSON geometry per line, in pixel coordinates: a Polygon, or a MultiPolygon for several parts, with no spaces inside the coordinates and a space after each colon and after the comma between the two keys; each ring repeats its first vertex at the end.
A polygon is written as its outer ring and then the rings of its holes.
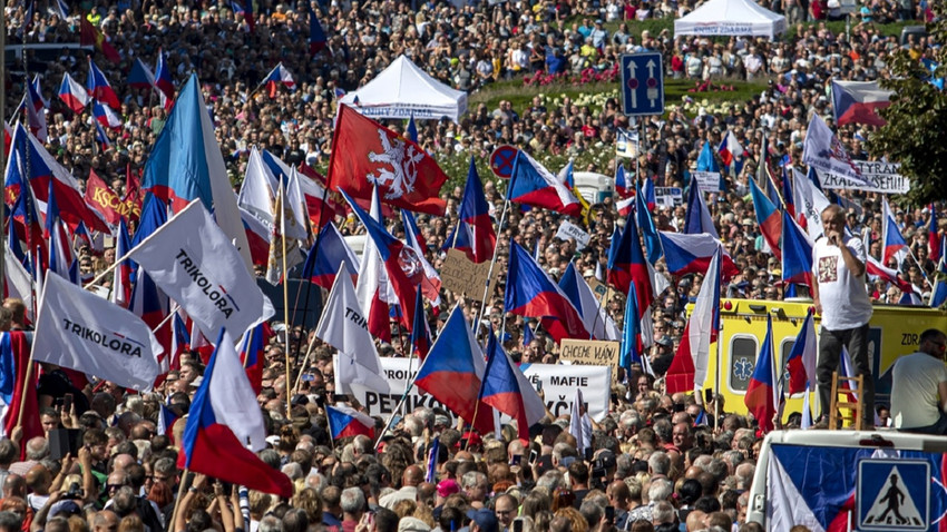
{"type": "MultiPolygon", "coordinates": [[[[860,238],[842,237],[852,255],[865,263],[865,244],[860,238]]],[[[871,301],[865,290],[865,278],[856,277],[845,265],[842,252],[826,237],[812,250],[812,275],[819,282],[822,326],[829,331],[860,327],[871,319],[871,301]]]]}

